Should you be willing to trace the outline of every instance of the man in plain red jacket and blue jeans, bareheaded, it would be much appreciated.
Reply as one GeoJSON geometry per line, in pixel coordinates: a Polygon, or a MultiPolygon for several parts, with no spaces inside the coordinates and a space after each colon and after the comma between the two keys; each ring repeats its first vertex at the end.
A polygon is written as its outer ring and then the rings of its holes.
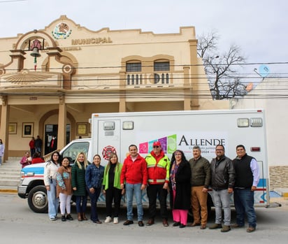
{"type": "Polygon", "coordinates": [[[133,194],[137,204],[138,226],[143,227],[142,190],[147,185],[147,164],[138,154],[136,145],[129,145],[129,155],[124,160],[120,175],[121,188],[126,189],[127,220],[124,225],[133,224],[133,194]]]}

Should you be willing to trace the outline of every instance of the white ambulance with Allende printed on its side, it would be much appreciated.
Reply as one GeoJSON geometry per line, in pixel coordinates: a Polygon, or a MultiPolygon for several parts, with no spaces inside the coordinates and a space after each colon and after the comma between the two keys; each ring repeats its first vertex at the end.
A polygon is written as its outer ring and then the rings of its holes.
{"type": "MultiPolygon", "coordinates": [[[[270,204],[263,109],[94,113],[89,122],[92,138],[71,141],[60,151],[62,157],[71,159],[71,163],[75,161],[78,152],[85,152],[89,162],[92,162],[95,154],[102,155],[103,166],[107,164],[106,160],[111,152],[116,152],[120,162],[123,162],[131,144],[137,145],[138,152],[145,157],[151,152],[154,141],[161,143],[168,157],[179,149],[188,160],[192,158],[194,145],[199,145],[202,156],[210,162],[215,157],[216,145],[224,145],[225,155],[233,159],[236,157],[236,145],[242,144],[245,145],[247,154],[257,159],[260,168],[261,180],[254,193],[254,203],[256,206],[270,204]]],[[[47,211],[45,187],[32,184],[36,180],[33,167],[27,166],[22,171],[18,195],[28,198],[32,210],[47,211]],[[34,187],[37,187],[36,190],[34,187]],[[41,201],[37,202],[39,195],[41,201]],[[37,203],[41,206],[37,206],[37,203]]],[[[43,177],[39,172],[38,168],[38,176],[43,177]]],[[[208,205],[212,206],[212,194],[209,196],[208,205]]],[[[105,204],[102,194],[99,201],[105,204]]],[[[233,204],[233,197],[231,203],[233,204]]],[[[148,205],[146,192],[143,192],[143,204],[148,205]]]]}

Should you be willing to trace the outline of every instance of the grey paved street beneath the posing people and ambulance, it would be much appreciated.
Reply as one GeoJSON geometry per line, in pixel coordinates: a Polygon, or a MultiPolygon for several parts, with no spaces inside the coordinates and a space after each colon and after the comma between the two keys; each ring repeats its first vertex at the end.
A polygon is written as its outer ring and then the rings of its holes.
{"type": "MultiPolygon", "coordinates": [[[[179,229],[162,227],[157,219],[152,227],[123,226],[126,210],[122,209],[120,224],[94,224],[91,221],[73,220],[51,222],[47,214],[32,212],[27,199],[17,194],[0,194],[1,243],[287,243],[288,206],[280,208],[257,208],[257,231],[247,234],[245,229],[233,229],[228,233],[218,230],[200,230],[199,227],[179,229]]],[[[88,208],[89,212],[89,208],[88,208]]],[[[75,206],[72,208],[75,215],[75,206]]],[[[88,213],[89,215],[89,213],[88,213]]],[[[213,217],[208,224],[213,224],[213,217]]],[[[235,212],[233,211],[233,220],[235,212]]],[[[99,209],[100,219],[105,219],[105,208],[99,209]]],[[[145,222],[147,221],[145,212],[145,222]]]]}

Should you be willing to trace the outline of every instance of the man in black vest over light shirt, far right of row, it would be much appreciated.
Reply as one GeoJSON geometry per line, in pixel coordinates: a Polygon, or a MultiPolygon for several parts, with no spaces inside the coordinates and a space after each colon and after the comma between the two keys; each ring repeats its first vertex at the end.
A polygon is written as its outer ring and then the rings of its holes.
{"type": "Polygon", "coordinates": [[[236,159],[233,160],[236,181],[234,185],[234,204],[236,209],[236,224],[232,228],[244,227],[247,215],[247,232],[256,229],[256,213],[254,210],[254,191],[259,182],[259,166],[254,159],[247,155],[244,145],[236,147],[236,159]]]}

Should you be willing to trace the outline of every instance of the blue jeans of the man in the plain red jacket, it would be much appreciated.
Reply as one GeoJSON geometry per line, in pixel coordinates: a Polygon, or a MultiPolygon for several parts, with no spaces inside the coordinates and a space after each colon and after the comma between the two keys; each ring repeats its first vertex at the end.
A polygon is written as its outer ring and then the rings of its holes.
{"type": "Polygon", "coordinates": [[[133,193],[135,194],[137,204],[138,221],[143,220],[143,206],[142,206],[142,190],[141,183],[129,184],[126,183],[126,196],[127,196],[127,220],[133,220],[133,193]]]}

